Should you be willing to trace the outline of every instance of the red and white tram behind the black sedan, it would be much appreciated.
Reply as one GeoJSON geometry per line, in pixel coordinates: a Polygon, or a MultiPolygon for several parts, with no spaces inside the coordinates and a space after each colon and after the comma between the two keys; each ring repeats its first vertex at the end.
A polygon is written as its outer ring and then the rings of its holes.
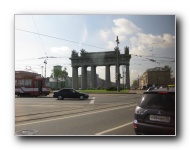
{"type": "Polygon", "coordinates": [[[49,79],[40,74],[15,71],[15,95],[17,96],[47,96],[50,93],[49,79]]]}

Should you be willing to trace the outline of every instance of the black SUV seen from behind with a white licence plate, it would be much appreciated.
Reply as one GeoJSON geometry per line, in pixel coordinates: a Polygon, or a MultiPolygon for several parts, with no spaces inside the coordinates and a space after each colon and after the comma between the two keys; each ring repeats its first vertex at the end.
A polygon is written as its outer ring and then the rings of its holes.
{"type": "Polygon", "coordinates": [[[138,135],[175,135],[175,90],[144,92],[133,125],[138,135]]]}

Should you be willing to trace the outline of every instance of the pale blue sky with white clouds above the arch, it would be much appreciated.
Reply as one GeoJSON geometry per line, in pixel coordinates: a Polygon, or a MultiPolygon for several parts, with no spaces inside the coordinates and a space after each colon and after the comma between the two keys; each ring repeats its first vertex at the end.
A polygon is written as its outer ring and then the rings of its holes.
{"type": "MultiPolygon", "coordinates": [[[[46,76],[54,65],[66,67],[72,76],[69,57],[73,49],[79,53],[82,48],[113,51],[118,36],[121,53],[128,46],[132,55],[131,83],[147,69],[165,65],[172,67],[175,76],[175,34],[175,15],[15,15],[15,70],[31,68],[41,74],[45,58],[40,58],[53,56],[61,58],[47,59],[46,76]]],[[[97,73],[105,78],[103,66],[97,67],[97,73]]],[[[112,66],[111,80],[114,78],[112,66]]]]}

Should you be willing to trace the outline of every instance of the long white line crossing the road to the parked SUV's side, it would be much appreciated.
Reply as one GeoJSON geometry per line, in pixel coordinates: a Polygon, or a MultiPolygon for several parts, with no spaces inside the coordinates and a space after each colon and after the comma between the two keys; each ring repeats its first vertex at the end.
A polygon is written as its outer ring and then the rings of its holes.
{"type": "Polygon", "coordinates": [[[67,118],[73,118],[73,117],[79,117],[79,116],[84,116],[84,115],[89,115],[89,114],[95,114],[95,113],[100,113],[100,112],[105,112],[105,111],[112,111],[112,110],[117,110],[117,109],[121,109],[121,108],[127,108],[127,107],[134,107],[137,104],[130,104],[127,106],[121,106],[121,107],[116,107],[116,108],[108,108],[108,109],[104,109],[104,110],[99,110],[99,111],[94,111],[94,112],[88,112],[88,113],[84,113],[84,114],[76,114],[73,116],[65,116],[65,117],[61,117],[61,118],[55,118],[55,119],[47,119],[47,120],[43,120],[43,121],[36,121],[36,122],[29,122],[29,123],[23,123],[23,124],[17,124],[15,126],[24,126],[24,125],[28,125],[28,124],[36,124],[36,123],[42,123],[42,122],[49,122],[49,121],[55,121],[55,120],[62,120],[62,119],[67,119],[67,118]]]}

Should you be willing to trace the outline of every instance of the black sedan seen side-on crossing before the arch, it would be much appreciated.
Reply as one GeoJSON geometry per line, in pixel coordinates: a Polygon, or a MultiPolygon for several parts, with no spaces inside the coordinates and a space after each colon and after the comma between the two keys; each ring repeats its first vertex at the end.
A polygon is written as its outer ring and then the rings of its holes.
{"type": "Polygon", "coordinates": [[[64,98],[79,98],[80,100],[84,100],[88,98],[89,95],[85,93],[77,92],[75,89],[61,89],[59,91],[54,92],[53,97],[57,98],[58,100],[62,100],[64,98]]]}

